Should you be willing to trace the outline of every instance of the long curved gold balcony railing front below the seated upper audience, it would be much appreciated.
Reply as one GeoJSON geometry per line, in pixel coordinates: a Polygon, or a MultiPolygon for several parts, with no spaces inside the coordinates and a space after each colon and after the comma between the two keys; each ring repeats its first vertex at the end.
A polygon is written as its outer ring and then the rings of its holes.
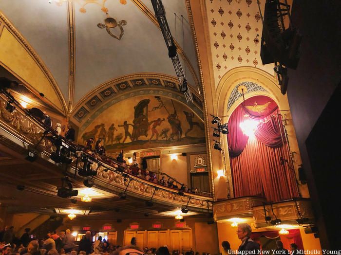
{"type": "MultiPolygon", "coordinates": [[[[8,93],[0,95],[0,127],[26,144],[28,149],[37,145],[40,156],[45,159],[50,157],[52,152],[56,151],[56,146],[52,142],[53,139],[51,139],[52,137],[58,137],[56,132],[44,127],[43,123],[30,115],[26,109],[22,109],[19,102],[16,100],[13,101],[13,98],[8,93]],[[12,104],[16,106],[16,109],[12,112],[9,112],[6,109],[9,100],[12,100],[12,104]],[[44,136],[44,132],[45,134],[48,133],[47,136],[44,136]]],[[[73,162],[68,165],[67,170],[70,176],[81,178],[76,176],[75,172],[79,167],[83,167],[84,163],[78,162],[76,158],[79,157],[79,154],[85,154],[94,161],[91,168],[92,170],[97,171],[97,175],[94,177],[93,181],[98,188],[119,193],[120,191],[125,190],[129,183],[127,194],[134,197],[148,200],[154,193],[154,190],[157,189],[153,196],[154,201],[171,206],[188,204],[188,208],[197,211],[212,210],[213,199],[210,197],[179,192],[178,190],[160,184],[145,181],[131,174],[123,173],[118,171],[118,167],[122,167],[119,163],[110,162],[99,156],[87,154],[84,151],[80,151],[81,148],[76,144],[73,144],[60,136],[58,138],[62,139],[65,144],[71,146],[74,152],[79,151],[78,155],[72,153],[71,157],[73,158],[73,162]]]]}

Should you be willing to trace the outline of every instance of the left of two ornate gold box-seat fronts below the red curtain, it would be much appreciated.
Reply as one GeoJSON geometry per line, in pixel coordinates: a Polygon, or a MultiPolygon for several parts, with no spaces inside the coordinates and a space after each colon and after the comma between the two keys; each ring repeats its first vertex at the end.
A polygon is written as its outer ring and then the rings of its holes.
{"type": "Polygon", "coordinates": [[[252,208],[263,204],[265,201],[265,198],[260,197],[242,197],[214,202],[213,218],[215,221],[231,218],[252,218],[252,208]]]}

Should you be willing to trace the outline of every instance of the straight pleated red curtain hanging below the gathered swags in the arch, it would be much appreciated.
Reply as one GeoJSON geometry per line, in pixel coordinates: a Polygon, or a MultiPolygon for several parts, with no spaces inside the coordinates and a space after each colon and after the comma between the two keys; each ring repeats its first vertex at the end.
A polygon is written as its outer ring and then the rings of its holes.
{"type": "Polygon", "coordinates": [[[268,201],[298,197],[292,171],[281,164],[283,146],[270,148],[249,139],[243,152],[230,158],[235,197],[264,196],[268,201]]]}

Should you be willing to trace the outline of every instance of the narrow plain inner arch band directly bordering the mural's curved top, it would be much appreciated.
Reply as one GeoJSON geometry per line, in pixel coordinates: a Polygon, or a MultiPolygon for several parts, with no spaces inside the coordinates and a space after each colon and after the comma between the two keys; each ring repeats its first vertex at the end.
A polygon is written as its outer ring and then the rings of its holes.
{"type": "Polygon", "coordinates": [[[105,104],[102,104],[99,108],[97,108],[92,114],[87,118],[85,122],[81,124],[79,127],[79,131],[83,132],[91,123],[95,121],[97,116],[102,114],[106,109],[110,108],[114,104],[124,101],[128,98],[131,98],[133,96],[160,96],[168,99],[172,99],[189,109],[191,109],[195,116],[197,116],[200,121],[204,122],[204,114],[202,109],[200,109],[198,106],[195,104],[189,102],[186,102],[185,96],[180,96],[178,93],[171,92],[171,91],[166,91],[163,89],[158,89],[158,88],[148,88],[148,89],[140,89],[140,90],[134,90],[134,91],[127,91],[125,93],[119,94],[118,96],[112,98],[111,100],[108,100],[105,104]]]}

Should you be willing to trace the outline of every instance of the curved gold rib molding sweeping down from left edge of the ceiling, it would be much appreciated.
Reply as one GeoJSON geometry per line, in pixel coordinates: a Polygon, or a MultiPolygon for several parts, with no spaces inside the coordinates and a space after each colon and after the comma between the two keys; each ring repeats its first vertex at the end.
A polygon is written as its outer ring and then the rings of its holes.
{"type": "MultiPolygon", "coordinates": [[[[9,21],[8,18],[6,18],[4,16],[4,14],[2,12],[0,12],[0,21],[1,21],[1,25],[3,23],[3,25],[6,28],[8,28],[8,31],[11,32],[15,36],[15,38],[19,41],[19,43],[24,46],[23,48],[29,53],[29,55],[31,55],[31,57],[34,59],[34,61],[38,64],[38,67],[43,71],[46,78],[48,79],[48,81],[52,85],[54,91],[58,95],[58,99],[59,99],[59,101],[62,105],[62,108],[63,108],[62,109],[63,113],[66,114],[67,113],[66,102],[65,102],[64,97],[63,97],[63,95],[62,95],[62,93],[61,93],[61,91],[57,85],[57,82],[56,82],[55,78],[53,77],[53,75],[51,74],[50,70],[46,67],[45,63],[42,61],[42,59],[39,57],[39,55],[36,53],[36,51],[32,48],[32,46],[19,33],[19,31],[15,28],[15,26],[9,21]]],[[[1,25],[0,25],[0,32],[3,29],[3,27],[1,28],[1,25]]],[[[8,68],[6,67],[6,69],[8,69],[8,68]]],[[[52,105],[54,105],[51,101],[50,101],[50,103],[52,105]]],[[[55,107],[56,107],[56,109],[59,109],[57,106],[55,106],[55,107]]]]}

